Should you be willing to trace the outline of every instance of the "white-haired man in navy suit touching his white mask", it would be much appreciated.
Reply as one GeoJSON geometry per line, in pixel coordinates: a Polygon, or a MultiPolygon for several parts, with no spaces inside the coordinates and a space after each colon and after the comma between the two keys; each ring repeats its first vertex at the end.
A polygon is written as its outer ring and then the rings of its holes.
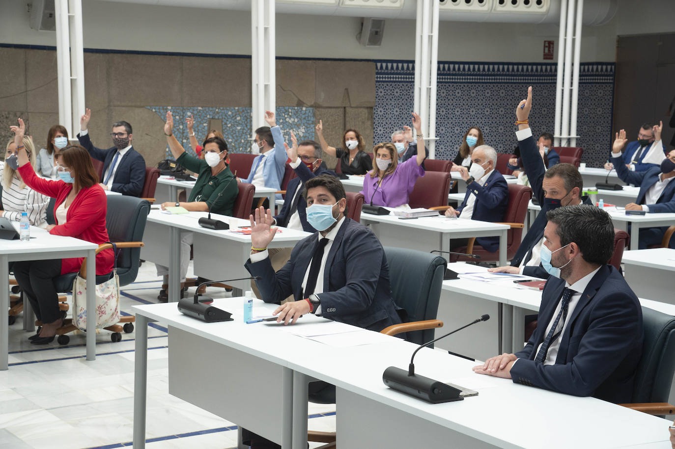
{"type": "MultiPolygon", "coordinates": [[[[466,220],[503,221],[508,204],[508,184],[495,170],[497,152],[494,148],[481,145],[471,152],[471,167],[460,167],[462,179],[466,182],[464,201],[458,208],[450,206],[445,216],[466,220]]],[[[499,237],[477,237],[476,242],[487,251],[499,249],[499,237]]],[[[452,239],[450,248],[466,246],[466,239],[452,239]]]]}

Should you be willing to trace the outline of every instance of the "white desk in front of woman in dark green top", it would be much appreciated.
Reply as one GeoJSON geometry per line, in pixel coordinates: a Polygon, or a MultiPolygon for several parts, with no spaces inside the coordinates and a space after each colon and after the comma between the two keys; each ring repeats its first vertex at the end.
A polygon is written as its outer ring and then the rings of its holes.
{"type": "MultiPolygon", "coordinates": [[[[189,214],[165,214],[159,210],[151,210],[143,235],[144,247],[140,250],[140,258],[150,262],[169,266],[169,300],[178,301],[180,289],[180,233],[194,233],[192,248],[194,255],[194,273],[207,279],[233,279],[248,277],[244,262],[250,255],[250,235],[242,235],[229,230],[215,231],[202,228],[197,220],[207,216],[207,212],[190,212],[189,214]]],[[[218,214],[211,218],[229,223],[238,221],[239,226],[248,226],[248,220],[240,220],[218,214]]],[[[311,235],[304,231],[280,228],[268,245],[270,248],[294,247],[298,241],[311,235]]],[[[250,280],[228,282],[236,289],[248,290],[250,280]],[[248,286],[248,287],[247,287],[248,286]]]]}

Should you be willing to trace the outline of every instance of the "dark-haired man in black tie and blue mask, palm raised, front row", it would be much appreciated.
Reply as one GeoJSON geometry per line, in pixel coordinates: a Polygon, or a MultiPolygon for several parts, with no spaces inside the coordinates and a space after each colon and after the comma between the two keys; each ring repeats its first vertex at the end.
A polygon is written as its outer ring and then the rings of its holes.
{"type": "MultiPolygon", "coordinates": [[[[271,211],[258,208],[250,217],[252,247],[244,266],[251,276],[260,276],[261,298],[267,303],[289,295],[295,299],[274,311],[277,322],[295,324],[305,313],[314,313],[376,332],[400,323],[384,249],[373,231],[346,218],[340,179],[319,175],[304,187],[307,222],[319,232],[299,241],[281,270],[274,272],[267,251],[276,233],[271,211]]],[[[311,390],[329,387],[313,384],[311,390]]],[[[281,448],[246,429],[242,439],[251,448],[281,448]]]]}

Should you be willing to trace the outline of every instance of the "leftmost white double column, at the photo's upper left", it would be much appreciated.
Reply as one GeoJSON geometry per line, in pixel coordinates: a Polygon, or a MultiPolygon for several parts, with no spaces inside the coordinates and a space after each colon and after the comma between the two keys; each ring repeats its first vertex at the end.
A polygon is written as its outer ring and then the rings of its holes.
{"type": "MultiPolygon", "coordinates": [[[[70,35],[68,32],[68,0],[54,3],[56,20],[56,65],[59,90],[59,123],[72,133],[70,95],[70,35]]],[[[72,134],[70,134],[72,136],[72,134]]]]}

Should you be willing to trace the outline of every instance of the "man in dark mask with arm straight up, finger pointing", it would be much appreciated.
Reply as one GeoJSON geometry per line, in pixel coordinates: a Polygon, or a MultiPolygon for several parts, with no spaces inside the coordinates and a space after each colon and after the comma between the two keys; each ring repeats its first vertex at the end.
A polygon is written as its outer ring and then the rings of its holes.
{"type": "Polygon", "coordinates": [[[541,154],[532,131],[527,124],[527,119],[532,109],[532,88],[527,90],[527,99],[520,102],[516,108],[516,120],[520,122],[516,138],[518,138],[518,148],[520,148],[520,157],[524,165],[525,174],[530,181],[530,187],[534,193],[534,198],[541,205],[541,212],[532,222],[525,238],[522,239],[516,256],[511,260],[509,266],[500,266],[490,268],[491,272],[506,272],[512,274],[524,274],[525,276],[535,276],[546,279],[548,273],[541,266],[541,247],[543,246],[543,233],[546,227],[546,212],[560,206],[569,206],[572,204],[591,204],[588,196],[582,196],[583,179],[572,164],[556,164],[548,170],[541,161],[541,154]],[[524,122],[524,123],[523,123],[524,122]]]}

